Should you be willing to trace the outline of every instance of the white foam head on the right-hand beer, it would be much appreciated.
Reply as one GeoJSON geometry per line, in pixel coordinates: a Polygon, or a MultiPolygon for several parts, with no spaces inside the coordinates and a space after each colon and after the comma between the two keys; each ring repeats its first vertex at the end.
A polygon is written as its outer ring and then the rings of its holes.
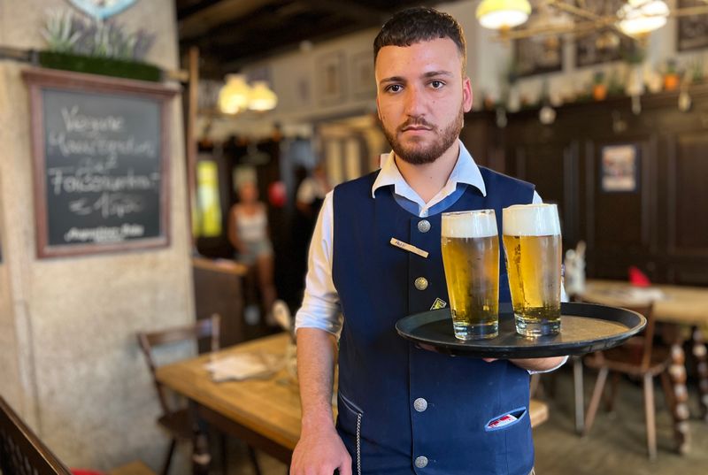
{"type": "Polygon", "coordinates": [[[514,204],[502,211],[507,236],[550,236],[560,234],[555,204],[514,204]]]}

